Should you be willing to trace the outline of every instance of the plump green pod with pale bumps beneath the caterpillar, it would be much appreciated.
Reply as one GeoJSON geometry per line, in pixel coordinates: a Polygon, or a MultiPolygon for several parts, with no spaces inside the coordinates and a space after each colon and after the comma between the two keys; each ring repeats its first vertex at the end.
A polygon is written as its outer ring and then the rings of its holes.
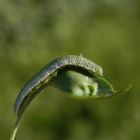
{"type": "Polygon", "coordinates": [[[63,71],[51,80],[52,86],[75,99],[96,99],[113,96],[116,91],[102,76],[87,76],[75,71],[63,71]]]}

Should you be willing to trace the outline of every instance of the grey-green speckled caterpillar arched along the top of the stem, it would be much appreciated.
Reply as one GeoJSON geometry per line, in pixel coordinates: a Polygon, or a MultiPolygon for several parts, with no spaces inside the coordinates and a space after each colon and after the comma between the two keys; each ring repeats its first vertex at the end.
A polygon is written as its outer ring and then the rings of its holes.
{"type": "Polygon", "coordinates": [[[82,55],[68,55],[56,58],[40,70],[40,72],[38,72],[35,76],[33,76],[33,78],[22,88],[15,102],[16,114],[18,115],[21,106],[24,106],[24,102],[27,104],[31,96],[35,96],[43,90],[43,88],[47,86],[49,80],[57,76],[57,73],[64,69],[86,72],[93,75],[103,75],[101,66],[95,64],[82,55]],[[33,92],[34,94],[31,94],[33,92]]]}

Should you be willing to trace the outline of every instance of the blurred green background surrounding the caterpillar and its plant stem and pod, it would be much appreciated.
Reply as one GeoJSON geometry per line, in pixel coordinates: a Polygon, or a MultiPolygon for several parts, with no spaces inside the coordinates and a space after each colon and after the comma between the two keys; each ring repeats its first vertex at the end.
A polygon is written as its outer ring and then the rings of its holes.
{"type": "Polygon", "coordinates": [[[50,60],[75,54],[104,69],[109,100],[76,101],[49,87],[26,111],[17,140],[140,139],[140,1],[0,1],[0,139],[13,129],[14,101],[50,60]]]}

